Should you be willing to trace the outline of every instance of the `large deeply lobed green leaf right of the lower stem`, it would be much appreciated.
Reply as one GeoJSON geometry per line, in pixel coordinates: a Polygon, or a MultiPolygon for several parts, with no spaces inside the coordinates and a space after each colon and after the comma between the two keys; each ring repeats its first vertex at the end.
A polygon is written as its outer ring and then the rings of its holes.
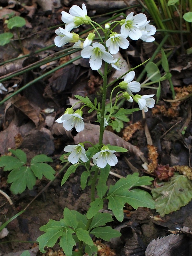
{"type": "Polygon", "coordinates": [[[121,178],[116,182],[114,186],[110,186],[107,199],[108,208],[112,210],[117,220],[123,220],[123,207],[125,203],[129,203],[133,208],[137,209],[140,206],[155,208],[155,204],[151,196],[142,190],[131,190],[132,187],[138,186],[138,184],[151,184],[150,177],[140,177],[134,175],[127,175],[126,178],[121,178]]]}

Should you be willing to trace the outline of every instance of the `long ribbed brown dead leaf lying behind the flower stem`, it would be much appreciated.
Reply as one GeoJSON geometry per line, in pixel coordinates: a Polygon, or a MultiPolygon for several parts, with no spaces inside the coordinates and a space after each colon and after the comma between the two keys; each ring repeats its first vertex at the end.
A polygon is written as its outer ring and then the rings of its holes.
{"type": "MultiPolygon", "coordinates": [[[[90,141],[93,144],[97,144],[99,142],[99,132],[100,126],[96,124],[85,124],[85,128],[82,132],[79,132],[75,137],[74,141],[76,144],[84,141],[90,141]]],[[[113,146],[119,146],[126,148],[128,150],[128,154],[135,154],[137,157],[144,159],[143,153],[139,148],[132,145],[131,143],[125,141],[118,135],[113,132],[105,131],[103,135],[103,143],[105,145],[110,144],[113,146]]],[[[85,146],[90,146],[90,144],[85,144],[85,146]]]]}

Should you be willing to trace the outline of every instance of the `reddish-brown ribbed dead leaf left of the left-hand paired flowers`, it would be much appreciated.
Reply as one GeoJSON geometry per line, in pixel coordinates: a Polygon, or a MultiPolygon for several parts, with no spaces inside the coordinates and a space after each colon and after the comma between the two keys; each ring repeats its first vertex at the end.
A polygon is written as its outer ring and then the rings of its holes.
{"type": "Polygon", "coordinates": [[[20,94],[14,96],[11,102],[16,108],[20,109],[26,116],[28,116],[36,126],[38,125],[40,115],[39,108],[34,108],[30,102],[20,94]]]}

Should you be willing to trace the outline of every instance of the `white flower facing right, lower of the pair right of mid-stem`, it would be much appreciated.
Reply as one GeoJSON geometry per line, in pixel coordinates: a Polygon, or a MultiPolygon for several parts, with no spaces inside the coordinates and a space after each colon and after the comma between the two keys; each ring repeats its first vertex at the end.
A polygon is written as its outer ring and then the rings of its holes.
{"type": "Polygon", "coordinates": [[[144,109],[144,112],[148,111],[148,108],[153,108],[155,105],[155,100],[153,97],[155,94],[143,95],[140,96],[136,94],[133,97],[133,100],[138,103],[140,110],[144,109]]]}

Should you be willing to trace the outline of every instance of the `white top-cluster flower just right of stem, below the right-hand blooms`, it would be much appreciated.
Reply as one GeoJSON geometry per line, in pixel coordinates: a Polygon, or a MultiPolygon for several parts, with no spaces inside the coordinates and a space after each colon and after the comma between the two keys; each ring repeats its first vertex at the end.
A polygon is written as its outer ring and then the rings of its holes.
{"type": "Polygon", "coordinates": [[[106,41],[106,46],[111,54],[116,54],[119,51],[119,47],[122,49],[127,49],[129,46],[129,41],[121,34],[112,32],[110,38],[106,41]]]}

